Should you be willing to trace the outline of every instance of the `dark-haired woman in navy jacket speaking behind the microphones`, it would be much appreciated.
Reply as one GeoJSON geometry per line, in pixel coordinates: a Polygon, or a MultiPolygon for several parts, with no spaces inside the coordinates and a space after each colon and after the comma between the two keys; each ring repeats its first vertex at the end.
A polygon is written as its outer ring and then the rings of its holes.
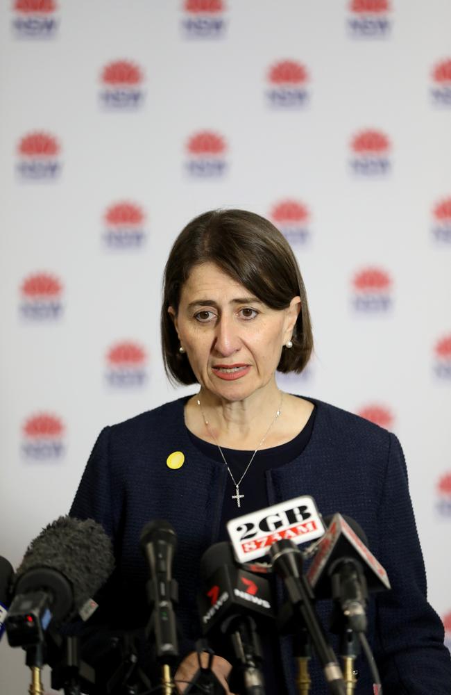
{"type": "MultiPolygon", "coordinates": [[[[169,255],[161,322],[169,377],[200,388],[105,427],[71,508],[74,516],[101,522],[114,540],[111,591],[131,603],[124,626],[146,618],[140,531],[150,519],[165,518],[178,534],[174,575],[185,656],[178,677],[189,680],[200,632],[201,555],[227,538],[230,518],[308,494],[323,514],[355,518],[389,574],[393,590],[368,608],[368,639],[385,695],[449,693],[449,653],[425,598],[398,440],[357,416],[278,389],[276,370],[302,371],[313,344],[303,280],[282,234],[241,210],[192,220],[169,255]]],[[[263,635],[266,692],[293,695],[291,639],[270,632],[263,635]]],[[[372,692],[360,657],[357,667],[356,692],[372,692]]],[[[230,669],[223,661],[219,668],[222,676],[230,669]]],[[[312,693],[327,692],[314,668],[312,682],[312,693]]]]}

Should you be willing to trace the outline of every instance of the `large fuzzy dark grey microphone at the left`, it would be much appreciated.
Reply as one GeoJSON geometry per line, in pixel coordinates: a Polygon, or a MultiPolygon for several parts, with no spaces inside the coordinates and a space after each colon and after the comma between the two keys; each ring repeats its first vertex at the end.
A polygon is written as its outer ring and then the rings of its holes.
{"type": "Polygon", "coordinates": [[[112,545],[99,523],[60,516],[28,546],[17,569],[6,632],[10,646],[42,644],[98,591],[114,567],[112,545]]]}

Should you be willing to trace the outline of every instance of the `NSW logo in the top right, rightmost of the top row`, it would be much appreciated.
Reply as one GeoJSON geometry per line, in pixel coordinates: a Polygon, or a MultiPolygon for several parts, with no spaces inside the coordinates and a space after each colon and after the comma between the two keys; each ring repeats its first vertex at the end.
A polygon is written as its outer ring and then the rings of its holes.
{"type": "Polygon", "coordinates": [[[350,0],[348,32],[352,38],[384,39],[391,31],[388,0],[350,0]]]}

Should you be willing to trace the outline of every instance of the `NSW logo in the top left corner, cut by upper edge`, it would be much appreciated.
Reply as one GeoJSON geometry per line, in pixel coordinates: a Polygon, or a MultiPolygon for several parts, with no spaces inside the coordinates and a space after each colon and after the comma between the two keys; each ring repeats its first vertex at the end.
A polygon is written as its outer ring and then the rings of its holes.
{"type": "Polygon", "coordinates": [[[20,39],[51,39],[60,25],[55,0],[15,0],[12,31],[20,39]]]}

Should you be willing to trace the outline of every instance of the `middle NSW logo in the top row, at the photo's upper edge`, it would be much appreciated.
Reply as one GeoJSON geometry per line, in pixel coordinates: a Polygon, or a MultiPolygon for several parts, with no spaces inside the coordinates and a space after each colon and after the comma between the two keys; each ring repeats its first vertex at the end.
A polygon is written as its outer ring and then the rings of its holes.
{"type": "Polygon", "coordinates": [[[189,39],[220,39],[226,33],[223,0],[185,0],[182,34],[189,39]]]}

